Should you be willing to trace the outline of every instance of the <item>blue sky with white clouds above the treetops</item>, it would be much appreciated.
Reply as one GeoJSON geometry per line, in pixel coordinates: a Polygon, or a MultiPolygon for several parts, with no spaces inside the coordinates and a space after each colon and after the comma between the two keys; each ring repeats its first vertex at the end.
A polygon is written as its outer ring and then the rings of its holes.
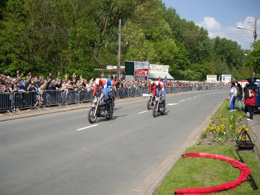
{"type": "Polygon", "coordinates": [[[207,29],[210,38],[232,39],[243,49],[252,49],[255,19],[260,39],[260,0],[162,0],[175,8],[181,19],[207,29]],[[237,28],[242,26],[246,29],[237,28]],[[252,31],[250,31],[252,30],[252,31]]]}

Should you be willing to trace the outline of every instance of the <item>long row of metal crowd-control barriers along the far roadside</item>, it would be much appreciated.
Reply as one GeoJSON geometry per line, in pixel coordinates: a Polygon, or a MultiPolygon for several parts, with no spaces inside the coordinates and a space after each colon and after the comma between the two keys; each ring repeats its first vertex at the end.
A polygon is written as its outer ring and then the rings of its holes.
{"type": "MultiPolygon", "coordinates": [[[[167,94],[198,91],[198,90],[225,90],[230,86],[169,86],[165,87],[167,94]]],[[[149,87],[143,88],[112,88],[111,96],[115,98],[138,98],[147,94],[149,87]]],[[[40,92],[0,93],[0,112],[19,112],[21,109],[38,109],[45,106],[67,106],[68,104],[83,104],[92,98],[93,90],[44,90],[40,92]]],[[[97,93],[100,93],[98,90],[97,93]]],[[[20,112],[19,112],[20,113],[20,112]]]]}

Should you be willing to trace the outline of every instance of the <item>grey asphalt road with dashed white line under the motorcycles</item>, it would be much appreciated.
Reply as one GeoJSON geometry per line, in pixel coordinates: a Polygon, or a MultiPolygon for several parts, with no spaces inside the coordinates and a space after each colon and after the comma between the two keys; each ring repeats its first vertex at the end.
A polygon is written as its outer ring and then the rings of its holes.
{"type": "Polygon", "coordinates": [[[227,98],[228,90],[168,96],[154,118],[147,99],[0,122],[0,195],[129,195],[227,98]]]}

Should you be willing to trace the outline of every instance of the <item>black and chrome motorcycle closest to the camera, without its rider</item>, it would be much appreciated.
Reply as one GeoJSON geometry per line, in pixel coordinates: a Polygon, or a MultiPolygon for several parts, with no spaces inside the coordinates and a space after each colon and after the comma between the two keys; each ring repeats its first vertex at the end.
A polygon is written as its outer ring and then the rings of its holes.
{"type": "Polygon", "coordinates": [[[90,123],[95,123],[97,117],[106,117],[106,119],[111,119],[113,116],[114,109],[114,98],[108,97],[104,98],[104,94],[101,93],[100,98],[94,97],[92,99],[93,106],[88,111],[88,121],[90,123]]]}

